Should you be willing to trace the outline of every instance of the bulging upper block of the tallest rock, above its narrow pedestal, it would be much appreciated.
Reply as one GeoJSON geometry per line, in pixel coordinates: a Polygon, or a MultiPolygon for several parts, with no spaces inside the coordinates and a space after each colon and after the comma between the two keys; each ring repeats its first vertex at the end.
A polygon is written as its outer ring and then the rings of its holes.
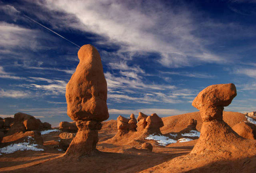
{"type": "Polygon", "coordinates": [[[72,120],[108,119],[107,82],[101,58],[92,45],[78,51],[80,60],[75,73],[66,86],[67,115],[72,120]]]}

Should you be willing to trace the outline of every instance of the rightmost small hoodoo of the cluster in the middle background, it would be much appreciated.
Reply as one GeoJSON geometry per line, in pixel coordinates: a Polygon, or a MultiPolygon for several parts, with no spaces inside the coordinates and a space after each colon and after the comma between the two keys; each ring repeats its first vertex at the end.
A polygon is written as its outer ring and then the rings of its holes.
{"type": "Polygon", "coordinates": [[[151,114],[146,119],[146,129],[149,133],[161,133],[160,127],[163,127],[163,121],[156,113],[151,114]]]}

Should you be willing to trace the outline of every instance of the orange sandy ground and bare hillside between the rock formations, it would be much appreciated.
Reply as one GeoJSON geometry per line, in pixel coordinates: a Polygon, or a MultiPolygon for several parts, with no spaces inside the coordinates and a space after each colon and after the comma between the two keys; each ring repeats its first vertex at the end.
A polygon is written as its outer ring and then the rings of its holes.
{"type": "MultiPolygon", "coordinates": [[[[162,133],[180,131],[187,126],[187,119],[199,114],[188,113],[163,118],[165,126],[162,133]],[[175,122],[175,123],[174,123],[175,122]],[[186,123],[185,123],[186,122],[186,123]]],[[[232,127],[245,118],[240,113],[224,112],[224,120],[232,127]]],[[[199,121],[197,129],[202,123],[199,121]]],[[[174,143],[167,146],[158,146],[152,140],[153,151],[141,149],[138,143],[124,142],[123,144],[107,143],[115,136],[116,121],[109,120],[103,123],[99,131],[99,152],[91,157],[74,158],[63,157],[63,151],[58,151],[59,133],[52,132],[43,137],[45,151],[17,151],[0,156],[1,172],[106,172],[106,173],[133,173],[133,172],[256,172],[256,157],[239,158],[239,160],[225,160],[223,157],[209,155],[191,155],[189,152],[197,140],[183,143],[174,143]]],[[[127,138],[127,141],[132,138],[127,138]]]]}

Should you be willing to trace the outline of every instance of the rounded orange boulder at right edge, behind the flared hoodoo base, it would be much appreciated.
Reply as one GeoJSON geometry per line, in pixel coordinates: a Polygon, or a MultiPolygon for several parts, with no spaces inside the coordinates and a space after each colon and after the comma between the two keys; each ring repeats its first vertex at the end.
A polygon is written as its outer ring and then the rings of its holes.
{"type": "Polygon", "coordinates": [[[256,139],[256,125],[249,122],[241,122],[232,127],[232,129],[241,137],[247,139],[256,139]]]}

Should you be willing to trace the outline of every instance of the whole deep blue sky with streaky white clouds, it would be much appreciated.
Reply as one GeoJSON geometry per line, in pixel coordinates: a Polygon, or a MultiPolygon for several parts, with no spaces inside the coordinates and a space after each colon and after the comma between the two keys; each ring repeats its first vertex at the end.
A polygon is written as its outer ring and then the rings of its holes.
{"type": "Polygon", "coordinates": [[[101,55],[109,119],[197,111],[199,91],[231,82],[225,109],[256,109],[255,0],[8,0],[0,14],[1,117],[70,121],[65,86],[84,44],[101,55]]]}

